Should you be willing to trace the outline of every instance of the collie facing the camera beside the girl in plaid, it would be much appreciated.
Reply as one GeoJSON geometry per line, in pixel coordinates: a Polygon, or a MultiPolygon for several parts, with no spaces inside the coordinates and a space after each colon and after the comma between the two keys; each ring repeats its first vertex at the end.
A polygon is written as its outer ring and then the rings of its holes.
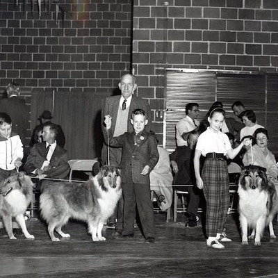
{"type": "Polygon", "coordinates": [[[278,211],[275,185],[268,181],[265,168],[249,165],[243,168],[238,182],[240,228],[243,245],[248,244],[247,229],[252,228],[249,238],[254,245],[261,245],[265,226],[269,226],[270,238],[276,238],[272,220],[278,211]]]}

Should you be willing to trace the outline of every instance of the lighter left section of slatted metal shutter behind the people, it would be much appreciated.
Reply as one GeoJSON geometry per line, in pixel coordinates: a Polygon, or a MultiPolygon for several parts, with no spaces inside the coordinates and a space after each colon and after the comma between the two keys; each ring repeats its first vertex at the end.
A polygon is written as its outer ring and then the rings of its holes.
{"type": "Polygon", "coordinates": [[[166,70],[166,113],[163,146],[170,152],[176,149],[175,126],[186,116],[185,107],[189,102],[199,104],[198,120],[215,101],[215,72],[188,72],[166,70]]]}

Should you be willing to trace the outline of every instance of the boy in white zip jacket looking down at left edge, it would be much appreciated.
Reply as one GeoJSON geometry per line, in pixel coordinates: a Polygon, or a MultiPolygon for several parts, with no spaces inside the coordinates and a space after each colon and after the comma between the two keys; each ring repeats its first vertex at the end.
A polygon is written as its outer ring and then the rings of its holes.
{"type": "Polygon", "coordinates": [[[22,141],[12,131],[12,120],[8,114],[0,113],[0,181],[17,172],[22,158],[22,141]]]}

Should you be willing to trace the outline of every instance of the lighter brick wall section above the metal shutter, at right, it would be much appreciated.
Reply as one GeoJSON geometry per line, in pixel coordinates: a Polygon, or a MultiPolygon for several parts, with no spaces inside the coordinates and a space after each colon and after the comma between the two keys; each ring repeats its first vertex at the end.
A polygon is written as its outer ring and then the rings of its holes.
{"type": "Polygon", "coordinates": [[[164,108],[165,67],[277,71],[278,1],[134,0],[132,56],[154,110],[164,108]]]}

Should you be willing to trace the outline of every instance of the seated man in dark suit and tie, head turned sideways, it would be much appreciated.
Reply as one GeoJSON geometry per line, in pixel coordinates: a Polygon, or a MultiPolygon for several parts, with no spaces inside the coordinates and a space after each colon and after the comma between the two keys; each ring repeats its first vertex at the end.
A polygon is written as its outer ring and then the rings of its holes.
{"type": "Polygon", "coordinates": [[[70,172],[67,163],[67,152],[56,142],[56,124],[44,124],[42,138],[44,142],[33,146],[28,154],[24,170],[27,174],[38,175],[52,179],[66,179],[70,172]]]}

